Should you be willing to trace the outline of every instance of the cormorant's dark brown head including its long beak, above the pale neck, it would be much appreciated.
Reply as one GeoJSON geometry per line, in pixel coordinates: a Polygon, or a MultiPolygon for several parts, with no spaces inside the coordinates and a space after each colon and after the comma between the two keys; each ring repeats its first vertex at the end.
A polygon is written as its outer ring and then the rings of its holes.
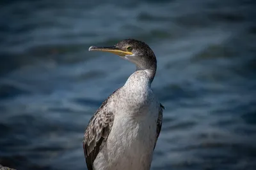
{"type": "Polygon", "coordinates": [[[89,51],[110,52],[136,64],[137,69],[156,69],[156,57],[143,41],[124,39],[114,46],[90,46],[89,51]]]}

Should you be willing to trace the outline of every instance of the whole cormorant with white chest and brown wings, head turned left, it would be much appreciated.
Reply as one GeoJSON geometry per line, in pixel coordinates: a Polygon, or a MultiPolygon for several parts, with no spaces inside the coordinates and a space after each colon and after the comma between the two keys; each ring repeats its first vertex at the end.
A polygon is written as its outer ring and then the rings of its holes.
{"type": "Polygon", "coordinates": [[[84,132],[88,170],[148,170],[161,132],[164,106],[151,89],[157,60],[143,41],[124,39],[114,46],[90,46],[135,64],[136,71],[95,112],[84,132]]]}

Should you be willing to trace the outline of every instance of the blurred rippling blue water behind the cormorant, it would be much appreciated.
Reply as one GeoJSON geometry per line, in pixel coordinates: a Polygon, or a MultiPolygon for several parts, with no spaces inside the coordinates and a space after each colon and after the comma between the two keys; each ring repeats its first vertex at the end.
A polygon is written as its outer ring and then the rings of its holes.
{"type": "Polygon", "coordinates": [[[145,41],[164,110],[151,169],[256,169],[256,10],[238,0],[0,2],[0,164],[86,169],[90,117],[135,66],[91,45],[145,41]]]}

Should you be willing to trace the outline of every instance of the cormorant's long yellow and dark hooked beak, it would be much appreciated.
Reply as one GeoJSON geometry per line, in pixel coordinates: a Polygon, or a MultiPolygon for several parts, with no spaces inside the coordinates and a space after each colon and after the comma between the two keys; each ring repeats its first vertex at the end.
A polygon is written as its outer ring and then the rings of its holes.
{"type": "Polygon", "coordinates": [[[123,57],[125,55],[132,55],[132,52],[127,52],[125,50],[116,48],[115,46],[90,46],[89,51],[110,52],[123,57]]]}

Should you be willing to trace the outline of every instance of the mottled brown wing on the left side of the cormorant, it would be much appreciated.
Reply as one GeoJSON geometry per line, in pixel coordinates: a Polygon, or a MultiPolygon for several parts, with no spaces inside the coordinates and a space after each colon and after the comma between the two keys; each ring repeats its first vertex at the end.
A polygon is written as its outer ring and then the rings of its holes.
{"type": "Polygon", "coordinates": [[[93,115],[84,133],[83,148],[88,170],[93,170],[93,162],[106,143],[113,125],[114,115],[107,110],[108,100],[111,96],[102,103],[93,115]]]}

